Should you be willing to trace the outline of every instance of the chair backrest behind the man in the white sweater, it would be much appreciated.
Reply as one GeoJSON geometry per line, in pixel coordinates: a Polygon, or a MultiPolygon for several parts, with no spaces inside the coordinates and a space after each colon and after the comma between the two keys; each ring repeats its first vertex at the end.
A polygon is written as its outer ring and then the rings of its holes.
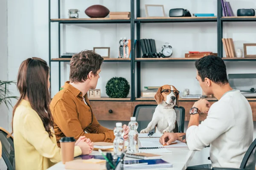
{"type": "Polygon", "coordinates": [[[255,169],[256,165],[256,139],[250,144],[250,147],[246,151],[244,158],[241,162],[240,168],[242,169],[255,169]]]}

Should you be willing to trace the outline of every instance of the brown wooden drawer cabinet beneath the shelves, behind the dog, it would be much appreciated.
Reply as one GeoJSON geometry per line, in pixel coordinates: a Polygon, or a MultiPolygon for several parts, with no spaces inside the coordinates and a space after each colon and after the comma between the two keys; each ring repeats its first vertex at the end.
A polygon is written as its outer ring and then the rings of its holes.
{"type": "MultiPolygon", "coordinates": [[[[211,104],[216,102],[216,99],[208,99],[211,104]]],[[[185,121],[189,121],[190,115],[189,110],[192,108],[195,100],[184,100],[179,101],[180,106],[185,108],[185,121]]],[[[256,121],[256,99],[248,99],[250,106],[253,111],[253,121],[256,121]]],[[[130,117],[134,112],[136,105],[144,104],[156,105],[155,101],[134,101],[134,102],[116,102],[116,101],[91,101],[93,113],[98,120],[120,120],[120,121],[130,121],[130,117]]],[[[207,114],[203,113],[200,116],[200,120],[206,119],[207,114]]]]}

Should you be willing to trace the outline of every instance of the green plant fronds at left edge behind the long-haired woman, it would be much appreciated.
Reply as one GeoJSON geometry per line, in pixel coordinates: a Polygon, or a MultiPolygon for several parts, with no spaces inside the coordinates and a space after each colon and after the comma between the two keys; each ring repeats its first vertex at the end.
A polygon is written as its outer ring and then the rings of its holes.
{"type": "Polygon", "coordinates": [[[13,81],[1,81],[0,80],[0,105],[5,104],[9,109],[9,105],[12,106],[11,99],[17,99],[17,96],[10,96],[11,92],[7,88],[7,85],[15,84],[13,81]]]}

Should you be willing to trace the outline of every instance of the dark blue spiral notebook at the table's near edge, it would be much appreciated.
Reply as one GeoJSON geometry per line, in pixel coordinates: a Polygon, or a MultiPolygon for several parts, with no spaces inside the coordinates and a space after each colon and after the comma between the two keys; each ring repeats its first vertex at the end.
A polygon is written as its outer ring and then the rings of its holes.
{"type": "Polygon", "coordinates": [[[128,161],[124,161],[124,164],[123,164],[124,170],[166,168],[166,167],[173,167],[173,164],[168,163],[163,159],[128,160],[128,161]]]}

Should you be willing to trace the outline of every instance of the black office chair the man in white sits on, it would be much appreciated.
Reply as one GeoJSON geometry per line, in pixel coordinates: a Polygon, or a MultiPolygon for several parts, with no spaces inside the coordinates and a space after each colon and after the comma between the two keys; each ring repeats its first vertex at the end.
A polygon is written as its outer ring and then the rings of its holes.
{"type": "MultiPolygon", "coordinates": [[[[229,168],[229,167],[213,167],[212,170],[255,170],[256,165],[256,139],[254,139],[253,143],[250,145],[248,150],[246,151],[244,158],[240,164],[239,168],[229,168]]],[[[196,168],[196,167],[188,167],[187,170],[210,170],[207,168],[196,168]]]]}

